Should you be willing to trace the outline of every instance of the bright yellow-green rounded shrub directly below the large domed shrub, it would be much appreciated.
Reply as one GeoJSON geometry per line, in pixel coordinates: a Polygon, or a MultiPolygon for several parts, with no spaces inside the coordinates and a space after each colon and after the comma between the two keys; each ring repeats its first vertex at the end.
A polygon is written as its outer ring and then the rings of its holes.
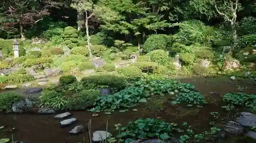
{"type": "Polygon", "coordinates": [[[164,50],[154,50],[148,52],[146,55],[150,56],[152,62],[156,62],[160,65],[167,65],[170,61],[169,54],[164,50]]]}

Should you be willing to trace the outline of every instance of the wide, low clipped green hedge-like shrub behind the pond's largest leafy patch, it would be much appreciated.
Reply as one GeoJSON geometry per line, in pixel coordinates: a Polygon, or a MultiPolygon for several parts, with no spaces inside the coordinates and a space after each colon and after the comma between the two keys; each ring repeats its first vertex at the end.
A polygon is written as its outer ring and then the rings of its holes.
{"type": "Polygon", "coordinates": [[[108,87],[117,91],[124,89],[128,84],[124,77],[117,76],[115,74],[92,75],[83,77],[80,82],[84,87],[89,89],[108,87]]]}

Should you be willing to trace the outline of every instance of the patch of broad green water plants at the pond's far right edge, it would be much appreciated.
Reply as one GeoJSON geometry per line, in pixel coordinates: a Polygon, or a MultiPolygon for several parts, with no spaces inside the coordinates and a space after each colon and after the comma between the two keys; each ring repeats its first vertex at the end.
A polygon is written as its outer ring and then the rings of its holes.
{"type": "Polygon", "coordinates": [[[245,105],[253,110],[256,110],[256,95],[250,95],[245,93],[232,93],[229,92],[223,97],[223,101],[231,105],[245,105]]]}

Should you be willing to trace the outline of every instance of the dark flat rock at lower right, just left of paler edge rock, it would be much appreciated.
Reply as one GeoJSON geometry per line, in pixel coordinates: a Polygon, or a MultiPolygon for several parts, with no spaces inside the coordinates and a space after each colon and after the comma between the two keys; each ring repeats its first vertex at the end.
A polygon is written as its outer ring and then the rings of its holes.
{"type": "Polygon", "coordinates": [[[232,135],[240,135],[244,133],[245,128],[237,122],[229,121],[224,125],[224,131],[232,135]]]}

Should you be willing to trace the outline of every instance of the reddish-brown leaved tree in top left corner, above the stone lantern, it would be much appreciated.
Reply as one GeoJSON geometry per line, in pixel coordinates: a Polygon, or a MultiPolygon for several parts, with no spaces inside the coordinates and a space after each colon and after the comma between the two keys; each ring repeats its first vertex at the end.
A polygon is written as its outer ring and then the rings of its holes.
{"type": "Polygon", "coordinates": [[[36,24],[42,20],[45,15],[49,15],[48,4],[40,0],[13,0],[3,1],[3,7],[5,8],[5,15],[8,21],[4,22],[6,28],[19,26],[20,36],[24,40],[26,26],[36,24]]]}

